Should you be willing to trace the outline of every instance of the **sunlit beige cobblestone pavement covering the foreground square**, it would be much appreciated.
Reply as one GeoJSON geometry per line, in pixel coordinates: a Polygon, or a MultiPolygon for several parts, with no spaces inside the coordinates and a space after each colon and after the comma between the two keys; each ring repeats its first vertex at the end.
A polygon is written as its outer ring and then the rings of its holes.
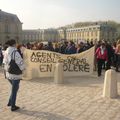
{"type": "Polygon", "coordinates": [[[63,85],[54,84],[53,78],[22,80],[17,96],[21,109],[11,112],[7,107],[11,86],[1,71],[0,120],[120,120],[120,97],[103,98],[103,81],[104,76],[96,74],[66,78],[63,85]]]}

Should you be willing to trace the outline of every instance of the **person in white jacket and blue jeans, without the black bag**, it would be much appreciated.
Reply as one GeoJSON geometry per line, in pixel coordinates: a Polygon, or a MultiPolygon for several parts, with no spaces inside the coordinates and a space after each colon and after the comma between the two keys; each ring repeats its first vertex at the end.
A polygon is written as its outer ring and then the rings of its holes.
{"type": "Polygon", "coordinates": [[[12,85],[11,88],[11,95],[8,101],[7,106],[11,107],[11,111],[18,110],[20,107],[16,106],[16,98],[17,98],[17,92],[19,89],[20,80],[22,79],[22,73],[21,74],[15,74],[10,73],[8,70],[10,67],[11,59],[13,59],[12,55],[14,53],[14,60],[17,66],[21,71],[25,69],[25,65],[23,62],[23,58],[21,57],[20,53],[17,51],[16,48],[16,41],[15,40],[9,40],[7,42],[8,48],[5,51],[3,64],[5,69],[5,77],[8,79],[10,84],[12,85]]]}

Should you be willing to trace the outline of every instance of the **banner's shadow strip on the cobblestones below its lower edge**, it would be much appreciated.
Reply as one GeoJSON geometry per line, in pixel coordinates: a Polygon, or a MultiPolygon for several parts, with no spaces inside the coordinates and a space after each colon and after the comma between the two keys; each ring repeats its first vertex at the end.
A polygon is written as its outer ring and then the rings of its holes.
{"type": "MultiPolygon", "coordinates": [[[[40,84],[55,85],[54,78],[36,78],[29,80],[30,82],[38,82],[40,84]]],[[[81,77],[65,77],[64,84],[59,84],[60,86],[67,87],[98,87],[103,84],[104,76],[81,76],[81,77]]],[[[57,84],[58,85],[58,84],[57,84]]]]}

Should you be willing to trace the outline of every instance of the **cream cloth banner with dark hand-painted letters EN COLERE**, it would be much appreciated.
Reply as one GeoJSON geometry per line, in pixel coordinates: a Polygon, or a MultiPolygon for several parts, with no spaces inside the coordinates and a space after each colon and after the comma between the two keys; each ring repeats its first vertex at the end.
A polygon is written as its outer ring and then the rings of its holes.
{"type": "Polygon", "coordinates": [[[25,49],[24,60],[26,78],[53,77],[58,62],[63,63],[64,76],[89,75],[93,73],[94,47],[72,55],[25,49]]]}

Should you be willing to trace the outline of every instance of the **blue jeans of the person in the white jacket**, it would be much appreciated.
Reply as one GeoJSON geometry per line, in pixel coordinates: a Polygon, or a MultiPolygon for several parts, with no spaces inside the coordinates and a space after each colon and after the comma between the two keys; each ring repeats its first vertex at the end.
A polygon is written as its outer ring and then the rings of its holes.
{"type": "Polygon", "coordinates": [[[19,89],[20,80],[9,80],[12,85],[11,95],[9,98],[8,105],[14,107],[16,104],[17,91],[19,89]]]}

